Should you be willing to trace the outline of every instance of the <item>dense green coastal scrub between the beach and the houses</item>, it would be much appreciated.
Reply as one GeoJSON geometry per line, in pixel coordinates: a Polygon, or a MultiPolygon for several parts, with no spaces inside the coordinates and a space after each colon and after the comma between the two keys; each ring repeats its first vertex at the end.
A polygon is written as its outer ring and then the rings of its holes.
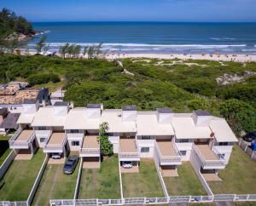
{"type": "Polygon", "coordinates": [[[256,129],[255,75],[228,85],[219,85],[216,78],[247,71],[256,72],[256,64],[211,60],[63,59],[13,54],[0,58],[1,83],[18,79],[35,87],[50,85],[50,89],[66,89],[65,100],[73,101],[75,106],[137,105],[138,110],[169,106],[175,112],[206,109],[227,118],[237,134],[241,130],[256,129]]]}

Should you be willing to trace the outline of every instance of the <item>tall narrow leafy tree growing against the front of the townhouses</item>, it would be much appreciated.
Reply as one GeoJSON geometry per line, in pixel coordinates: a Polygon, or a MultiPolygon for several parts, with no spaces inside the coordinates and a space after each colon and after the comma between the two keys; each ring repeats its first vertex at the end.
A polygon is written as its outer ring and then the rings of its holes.
{"type": "Polygon", "coordinates": [[[108,123],[101,123],[99,141],[101,145],[102,154],[105,157],[113,155],[113,145],[108,140],[108,123]]]}

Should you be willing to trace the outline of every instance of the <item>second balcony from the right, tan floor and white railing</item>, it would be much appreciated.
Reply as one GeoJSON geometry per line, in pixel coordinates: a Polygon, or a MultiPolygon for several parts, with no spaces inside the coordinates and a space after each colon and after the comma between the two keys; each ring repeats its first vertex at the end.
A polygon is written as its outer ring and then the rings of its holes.
{"type": "Polygon", "coordinates": [[[175,143],[172,143],[171,140],[156,141],[155,148],[160,160],[160,165],[182,164],[182,155],[177,150],[175,143]]]}

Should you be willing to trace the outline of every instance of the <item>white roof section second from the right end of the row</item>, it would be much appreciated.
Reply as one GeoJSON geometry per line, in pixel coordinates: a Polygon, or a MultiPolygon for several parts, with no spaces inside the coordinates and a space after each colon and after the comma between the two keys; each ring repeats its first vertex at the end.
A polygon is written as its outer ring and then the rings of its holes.
{"type": "Polygon", "coordinates": [[[173,117],[172,126],[177,139],[206,139],[212,138],[211,129],[207,127],[196,127],[194,120],[189,117],[173,117]]]}

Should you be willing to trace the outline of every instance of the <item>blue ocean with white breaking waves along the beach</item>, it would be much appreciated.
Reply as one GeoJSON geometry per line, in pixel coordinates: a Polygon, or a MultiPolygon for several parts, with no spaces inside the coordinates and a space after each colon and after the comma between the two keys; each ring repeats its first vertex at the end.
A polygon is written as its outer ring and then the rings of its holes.
{"type": "MultiPolygon", "coordinates": [[[[50,50],[103,43],[119,54],[256,54],[256,23],[37,22],[50,50]]],[[[40,34],[27,43],[34,49],[40,34]]]]}

